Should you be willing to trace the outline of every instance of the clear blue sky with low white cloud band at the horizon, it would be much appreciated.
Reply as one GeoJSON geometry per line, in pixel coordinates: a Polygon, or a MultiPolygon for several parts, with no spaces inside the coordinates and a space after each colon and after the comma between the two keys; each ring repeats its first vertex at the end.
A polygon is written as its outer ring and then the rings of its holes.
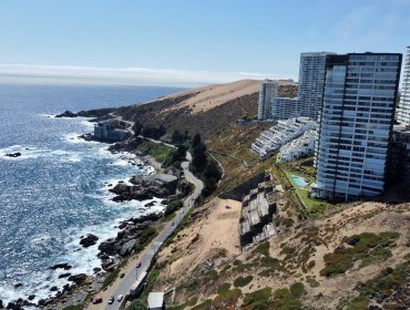
{"type": "Polygon", "coordinates": [[[301,52],[399,52],[410,0],[2,0],[0,83],[298,79],[301,52]]]}

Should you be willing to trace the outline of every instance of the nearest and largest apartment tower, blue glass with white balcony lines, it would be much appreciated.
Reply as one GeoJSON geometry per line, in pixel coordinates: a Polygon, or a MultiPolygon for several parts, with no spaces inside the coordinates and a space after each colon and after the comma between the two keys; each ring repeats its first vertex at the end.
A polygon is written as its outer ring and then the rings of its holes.
{"type": "Polygon", "coordinates": [[[314,197],[382,193],[400,69],[397,53],[327,56],[314,197]]]}

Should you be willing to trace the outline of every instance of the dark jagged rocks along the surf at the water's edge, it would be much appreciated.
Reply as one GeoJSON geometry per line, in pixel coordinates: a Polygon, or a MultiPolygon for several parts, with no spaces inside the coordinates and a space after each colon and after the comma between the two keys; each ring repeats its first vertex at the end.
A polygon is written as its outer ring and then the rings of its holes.
{"type": "MultiPolygon", "coordinates": [[[[88,140],[86,136],[81,137],[88,140]]],[[[112,145],[109,149],[112,153],[120,153],[130,152],[135,149],[135,147],[125,143],[120,143],[112,145]]],[[[131,153],[135,154],[135,152],[131,153]]],[[[151,165],[153,162],[155,162],[155,159],[148,158],[150,156],[145,154],[136,155],[143,155],[143,157],[140,159],[146,165],[151,165]]],[[[137,165],[139,163],[134,162],[130,164],[137,165]]],[[[154,166],[157,170],[161,165],[155,162],[154,166]]],[[[156,197],[163,198],[162,204],[166,205],[173,199],[181,198],[182,194],[177,193],[176,189],[177,182],[178,177],[174,175],[155,173],[148,176],[133,176],[129,184],[119,182],[109,190],[115,195],[112,198],[114,202],[125,202],[132,199],[146,200],[156,197]]],[[[145,207],[148,208],[152,205],[153,204],[146,204],[145,207]]],[[[162,217],[162,213],[152,213],[141,217],[132,217],[120,221],[116,237],[104,240],[98,246],[100,250],[98,258],[101,259],[101,268],[94,268],[94,275],[72,275],[70,272],[72,267],[66,262],[60,262],[54,266],[50,266],[49,269],[51,270],[61,269],[66,271],[59,275],[59,278],[66,278],[68,283],[65,283],[62,288],[58,288],[55,286],[50,287],[50,292],[54,296],[40,299],[37,303],[33,302],[35,299],[34,294],[30,294],[25,299],[20,298],[9,302],[8,304],[4,304],[0,299],[0,309],[18,310],[29,307],[54,310],[82,303],[88,294],[96,292],[102,288],[107,272],[115,270],[121,264],[122,259],[130,256],[132,252],[139,249],[139,246],[144,245],[152,237],[154,237],[153,228],[158,225],[162,217]]],[[[100,238],[98,236],[88,234],[80,238],[79,245],[84,248],[96,246],[99,239],[100,238]]],[[[16,286],[20,287],[22,283],[16,283],[16,286]]]]}

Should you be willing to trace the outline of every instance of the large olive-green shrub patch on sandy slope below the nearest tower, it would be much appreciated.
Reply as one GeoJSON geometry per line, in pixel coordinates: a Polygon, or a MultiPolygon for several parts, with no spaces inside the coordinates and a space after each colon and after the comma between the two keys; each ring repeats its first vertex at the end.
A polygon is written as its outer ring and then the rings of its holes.
{"type": "Polygon", "coordinates": [[[320,270],[321,276],[332,277],[345,273],[360,260],[359,268],[386,260],[391,256],[390,247],[399,238],[396,231],[385,231],[379,235],[363,232],[345,239],[345,245],[339,246],[332,254],[324,256],[326,267],[320,270]]]}

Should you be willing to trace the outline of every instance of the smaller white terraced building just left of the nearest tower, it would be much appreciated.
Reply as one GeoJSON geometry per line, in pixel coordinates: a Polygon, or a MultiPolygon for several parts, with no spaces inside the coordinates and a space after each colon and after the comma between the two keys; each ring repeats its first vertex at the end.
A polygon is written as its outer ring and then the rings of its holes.
{"type": "Polygon", "coordinates": [[[314,154],[316,140],[316,130],[305,132],[298,138],[280,147],[277,162],[287,163],[300,158],[301,156],[314,154]]]}

